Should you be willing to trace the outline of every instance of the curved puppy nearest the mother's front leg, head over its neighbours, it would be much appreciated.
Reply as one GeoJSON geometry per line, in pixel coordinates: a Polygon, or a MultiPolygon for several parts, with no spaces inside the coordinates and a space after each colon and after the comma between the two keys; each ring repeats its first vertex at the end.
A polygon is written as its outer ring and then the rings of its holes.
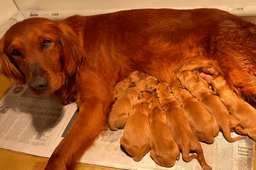
{"type": "Polygon", "coordinates": [[[135,87],[131,87],[125,91],[114,103],[109,113],[108,122],[112,130],[124,128],[128,119],[128,112],[132,105],[138,100],[138,96],[145,91],[156,89],[158,80],[155,77],[148,76],[139,81],[135,87]]]}

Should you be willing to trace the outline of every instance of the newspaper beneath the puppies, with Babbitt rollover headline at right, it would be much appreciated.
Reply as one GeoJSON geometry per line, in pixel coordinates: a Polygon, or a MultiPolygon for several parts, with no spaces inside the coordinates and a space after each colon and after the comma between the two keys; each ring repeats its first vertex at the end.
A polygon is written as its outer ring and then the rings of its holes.
{"type": "MultiPolygon", "coordinates": [[[[141,161],[136,162],[129,156],[120,144],[123,129],[112,131],[108,129],[100,136],[96,145],[84,154],[81,162],[131,170],[202,170],[196,159],[185,162],[176,161],[171,168],[157,165],[148,152],[141,161]]],[[[231,132],[231,137],[238,136],[231,132]]],[[[228,142],[222,132],[215,137],[212,144],[200,142],[204,151],[205,160],[213,170],[253,170],[255,142],[250,138],[228,142]]]]}

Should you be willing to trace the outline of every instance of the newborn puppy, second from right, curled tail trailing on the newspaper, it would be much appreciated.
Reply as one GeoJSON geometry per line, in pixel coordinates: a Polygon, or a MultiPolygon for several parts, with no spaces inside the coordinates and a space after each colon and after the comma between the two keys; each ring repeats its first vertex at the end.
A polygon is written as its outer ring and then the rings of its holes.
{"type": "Polygon", "coordinates": [[[223,135],[229,142],[246,138],[246,136],[231,137],[230,131],[235,130],[235,127],[239,124],[238,119],[229,114],[218,96],[211,94],[212,89],[209,88],[209,84],[198,74],[197,71],[182,72],[180,81],[183,87],[203,105],[210,115],[214,116],[219,128],[223,131],[223,135]]]}

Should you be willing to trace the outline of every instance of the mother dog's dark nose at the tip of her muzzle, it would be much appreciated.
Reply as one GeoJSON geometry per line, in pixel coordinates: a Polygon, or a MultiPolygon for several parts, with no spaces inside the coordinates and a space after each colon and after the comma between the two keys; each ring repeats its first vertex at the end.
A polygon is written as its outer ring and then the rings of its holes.
{"type": "Polygon", "coordinates": [[[37,76],[29,82],[29,88],[35,92],[43,92],[48,86],[48,78],[37,76]]]}

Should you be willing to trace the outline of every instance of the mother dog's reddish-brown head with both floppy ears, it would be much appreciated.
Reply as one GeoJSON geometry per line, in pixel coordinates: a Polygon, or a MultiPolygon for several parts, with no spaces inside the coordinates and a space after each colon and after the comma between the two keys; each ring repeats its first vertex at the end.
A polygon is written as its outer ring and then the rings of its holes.
{"type": "Polygon", "coordinates": [[[65,20],[18,22],[0,40],[1,73],[17,86],[27,84],[35,96],[52,94],[84,60],[77,34],[65,20]]]}

